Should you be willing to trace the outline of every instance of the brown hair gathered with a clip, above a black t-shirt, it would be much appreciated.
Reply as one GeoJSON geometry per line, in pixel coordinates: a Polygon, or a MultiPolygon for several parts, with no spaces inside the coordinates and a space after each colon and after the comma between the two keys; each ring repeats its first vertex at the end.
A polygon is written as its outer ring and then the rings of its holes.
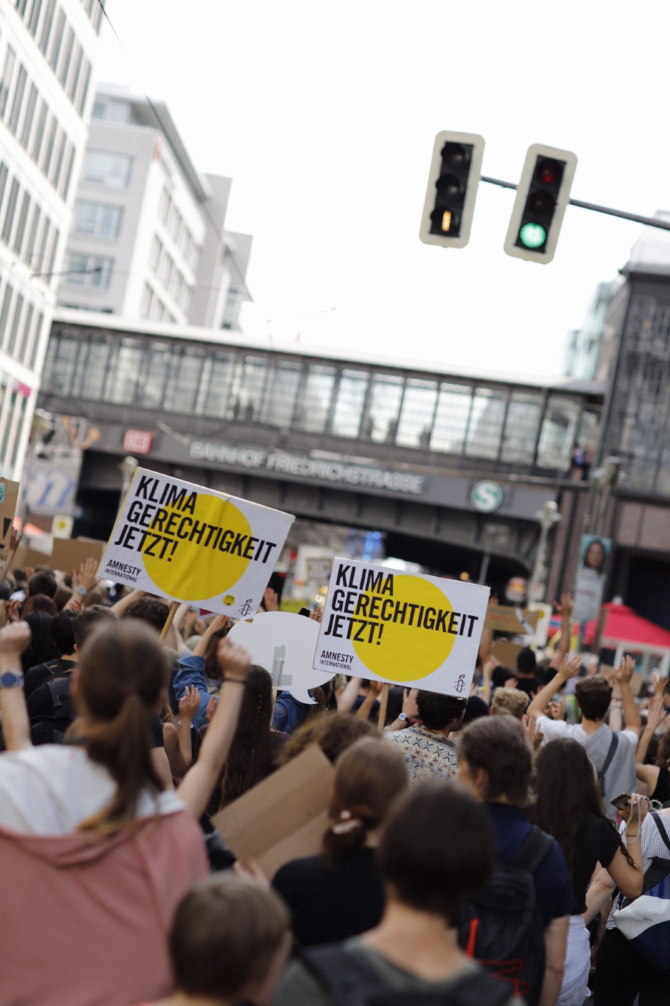
{"type": "Polygon", "coordinates": [[[326,855],[337,859],[363,845],[407,786],[404,759],[381,737],[363,737],[347,747],[335,764],[328,809],[332,823],[323,837],[326,855]]]}

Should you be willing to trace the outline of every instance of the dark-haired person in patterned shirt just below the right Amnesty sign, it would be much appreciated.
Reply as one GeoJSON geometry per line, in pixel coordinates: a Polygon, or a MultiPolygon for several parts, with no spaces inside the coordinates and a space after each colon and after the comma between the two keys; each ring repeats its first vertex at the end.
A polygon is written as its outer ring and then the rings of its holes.
{"type": "Polygon", "coordinates": [[[458,776],[456,744],[449,739],[449,734],[461,726],[466,704],[466,699],[454,695],[420,691],[416,707],[421,723],[385,734],[386,740],[397,744],[410,783],[430,776],[442,776],[443,779],[458,776]]]}

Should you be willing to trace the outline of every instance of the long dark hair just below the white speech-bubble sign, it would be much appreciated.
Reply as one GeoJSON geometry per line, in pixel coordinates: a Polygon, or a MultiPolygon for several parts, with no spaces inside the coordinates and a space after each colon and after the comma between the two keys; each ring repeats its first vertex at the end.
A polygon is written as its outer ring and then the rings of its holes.
{"type": "Polygon", "coordinates": [[[273,679],[257,664],[246,678],[237,727],[221,781],[221,807],[241,797],[273,770],[273,679]]]}

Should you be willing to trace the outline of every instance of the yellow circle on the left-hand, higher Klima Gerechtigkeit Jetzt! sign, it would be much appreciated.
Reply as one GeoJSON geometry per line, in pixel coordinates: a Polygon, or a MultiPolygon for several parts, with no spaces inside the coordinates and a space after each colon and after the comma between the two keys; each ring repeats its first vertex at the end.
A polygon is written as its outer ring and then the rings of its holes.
{"type": "MultiPolygon", "coordinates": [[[[233,544],[238,534],[249,536],[252,528],[241,510],[217,496],[198,494],[193,513],[190,508],[162,507],[151,522],[152,531],[142,547],[144,567],[168,598],[214,598],[236,583],[252,561],[218,547],[221,540],[233,544]],[[232,531],[234,537],[228,534],[222,539],[224,531],[232,531]],[[157,535],[161,535],[158,542],[157,535]]],[[[240,545],[242,553],[247,542],[248,537],[240,545]]]]}

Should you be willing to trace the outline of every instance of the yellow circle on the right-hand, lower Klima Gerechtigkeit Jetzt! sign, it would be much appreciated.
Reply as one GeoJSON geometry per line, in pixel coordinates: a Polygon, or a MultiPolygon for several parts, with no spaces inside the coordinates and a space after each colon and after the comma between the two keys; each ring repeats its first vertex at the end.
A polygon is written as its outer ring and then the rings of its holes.
{"type": "MultiPolygon", "coordinates": [[[[384,601],[391,596],[389,594],[378,595],[374,591],[368,591],[367,598],[378,598],[384,601]]],[[[378,674],[385,681],[415,681],[417,678],[428,677],[437,671],[449,657],[454,646],[456,636],[453,633],[440,629],[417,628],[418,620],[428,617],[435,619],[434,612],[446,612],[445,625],[449,628],[449,621],[453,611],[449,600],[435,583],[420,576],[394,575],[393,576],[393,610],[396,603],[400,611],[406,604],[404,614],[404,624],[399,619],[396,622],[382,622],[379,618],[370,621],[375,623],[372,642],[367,642],[370,634],[370,626],[366,626],[361,631],[361,636],[366,642],[354,639],[355,630],[360,626],[360,622],[355,623],[354,631],[351,634],[353,648],[358,658],[365,664],[368,670],[378,674]],[[415,605],[412,624],[409,625],[410,608],[415,605]],[[424,611],[422,612],[422,608],[424,611]],[[381,636],[378,635],[378,623],[381,626],[381,636]]],[[[388,610],[389,606],[386,606],[388,610]]],[[[357,619],[364,618],[361,613],[354,616],[357,619]]]]}

